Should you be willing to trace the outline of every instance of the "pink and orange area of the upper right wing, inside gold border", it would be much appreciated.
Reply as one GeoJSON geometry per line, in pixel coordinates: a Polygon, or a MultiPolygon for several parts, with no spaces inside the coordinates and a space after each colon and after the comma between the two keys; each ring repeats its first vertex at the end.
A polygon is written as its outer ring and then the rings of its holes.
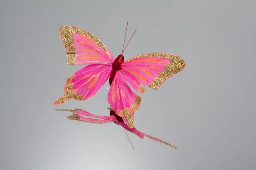
{"type": "Polygon", "coordinates": [[[169,59],[160,57],[137,58],[123,62],[122,71],[137,83],[146,86],[151,84],[153,79],[159,76],[159,72],[164,71],[164,66],[169,64],[169,62],[169,59]]]}

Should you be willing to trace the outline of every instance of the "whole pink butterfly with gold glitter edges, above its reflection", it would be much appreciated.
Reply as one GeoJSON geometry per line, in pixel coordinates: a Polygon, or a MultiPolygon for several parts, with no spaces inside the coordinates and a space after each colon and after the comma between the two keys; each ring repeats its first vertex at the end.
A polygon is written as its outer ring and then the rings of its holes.
{"type": "Polygon", "coordinates": [[[87,66],[68,77],[64,94],[54,104],[61,105],[71,98],[89,99],[109,78],[108,102],[131,128],[134,127],[134,112],[139,108],[141,97],[129,85],[141,94],[145,92],[143,86],[157,90],[166,79],[186,66],[181,57],[159,52],[141,54],[125,61],[122,55],[125,49],[122,49],[122,54],[115,59],[97,37],[74,26],[61,26],[59,34],[67,52],[67,64],[87,66]]]}

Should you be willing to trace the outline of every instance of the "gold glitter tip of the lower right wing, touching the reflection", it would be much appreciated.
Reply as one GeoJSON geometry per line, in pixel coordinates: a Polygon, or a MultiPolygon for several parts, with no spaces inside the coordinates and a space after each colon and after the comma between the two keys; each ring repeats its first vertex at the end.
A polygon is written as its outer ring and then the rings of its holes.
{"type": "Polygon", "coordinates": [[[118,109],[116,111],[116,114],[118,116],[121,116],[125,119],[125,122],[127,122],[127,125],[131,128],[134,127],[134,113],[135,111],[137,111],[140,107],[140,103],[141,103],[141,97],[136,95],[136,101],[134,103],[131,103],[131,107],[130,108],[126,108],[123,111],[120,111],[120,109],[118,109]]]}

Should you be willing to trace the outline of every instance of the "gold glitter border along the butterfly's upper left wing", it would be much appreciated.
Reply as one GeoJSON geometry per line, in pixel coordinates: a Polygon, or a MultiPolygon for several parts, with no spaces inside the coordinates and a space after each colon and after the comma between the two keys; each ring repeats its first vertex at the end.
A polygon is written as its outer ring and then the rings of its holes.
{"type": "Polygon", "coordinates": [[[63,42],[63,45],[67,52],[67,64],[68,65],[78,64],[76,62],[76,53],[75,53],[76,47],[73,45],[73,43],[75,41],[75,39],[73,37],[74,33],[80,33],[80,34],[90,38],[91,40],[93,40],[97,45],[99,45],[100,48],[102,48],[103,51],[106,52],[108,57],[111,59],[111,54],[107,50],[107,48],[103,44],[103,42],[101,42],[96,36],[94,36],[90,32],[85,31],[81,28],[74,27],[74,26],[61,26],[59,28],[59,34],[61,37],[61,41],[63,42]]]}

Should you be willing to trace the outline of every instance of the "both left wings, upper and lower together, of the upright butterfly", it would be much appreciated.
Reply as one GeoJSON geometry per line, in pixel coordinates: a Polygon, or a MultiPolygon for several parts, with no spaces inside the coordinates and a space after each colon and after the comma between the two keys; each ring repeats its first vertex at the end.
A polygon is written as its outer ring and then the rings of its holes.
{"type": "Polygon", "coordinates": [[[74,26],[59,28],[61,41],[67,52],[67,64],[88,65],[72,74],[64,86],[64,94],[55,100],[61,105],[67,100],[86,100],[105,84],[112,71],[114,57],[93,34],[74,26]]]}

